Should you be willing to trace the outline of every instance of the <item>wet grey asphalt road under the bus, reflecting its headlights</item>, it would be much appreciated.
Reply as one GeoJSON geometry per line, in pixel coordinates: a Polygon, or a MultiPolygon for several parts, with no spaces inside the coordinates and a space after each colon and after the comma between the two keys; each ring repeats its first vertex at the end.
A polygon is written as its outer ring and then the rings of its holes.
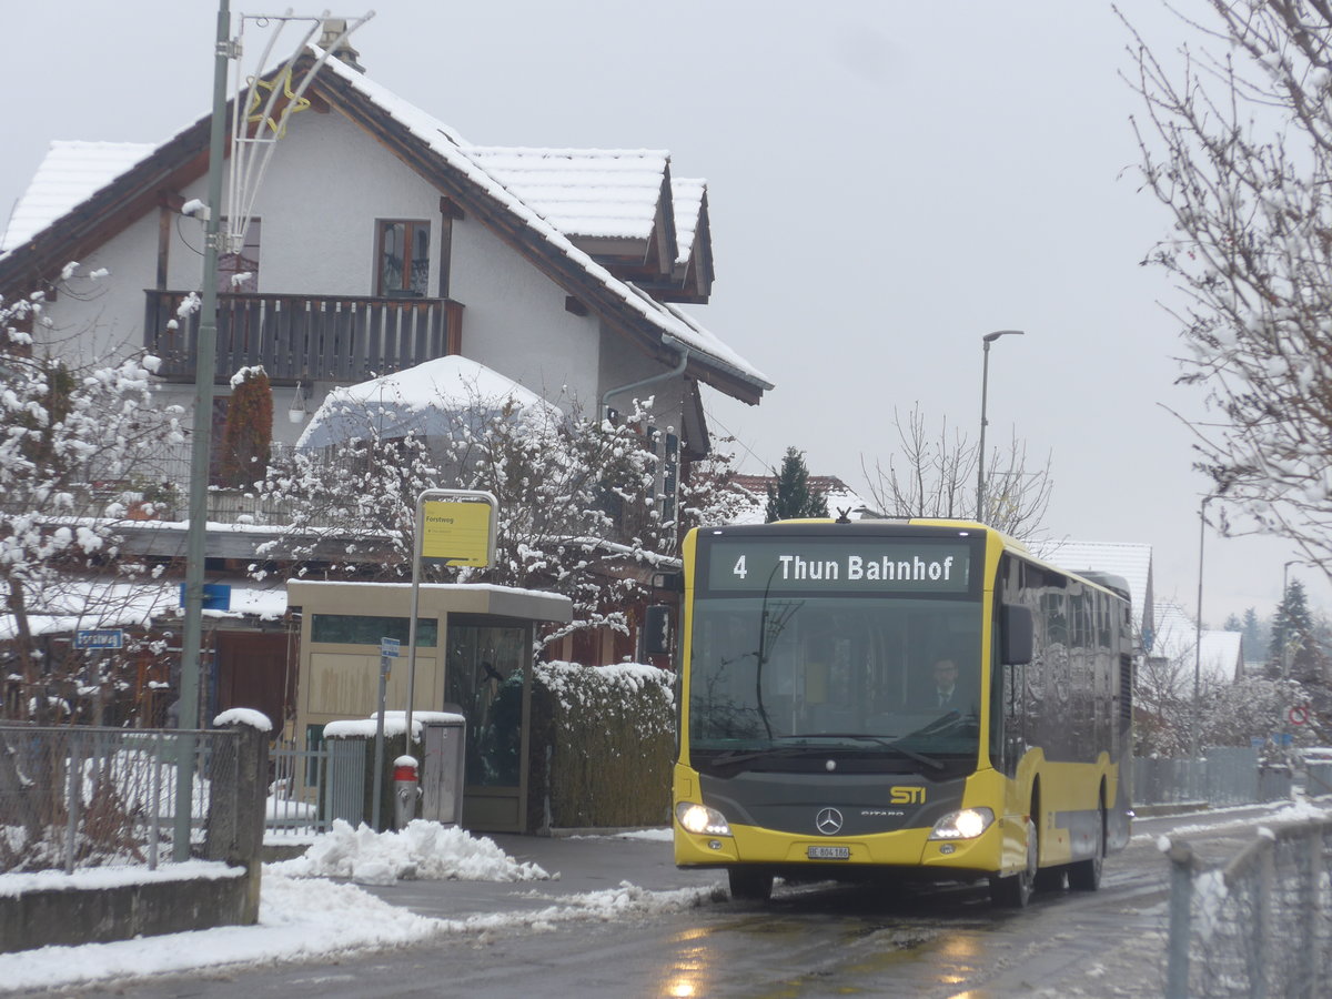
{"type": "Polygon", "coordinates": [[[1107,860],[1100,891],[1039,894],[1018,912],[992,908],[984,886],[779,884],[770,903],[742,904],[726,898],[721,872],[678,871],[666,842],[494,836],[515,859],[558,871],[559,879],[372,890],[422,915],[492,916],[490,928],[473,924],[388,952],[209,971],[117,991],[209,999],[1159,996],[1168,866],[1158,836],[1188,827],[1200,852],[1221,859],[1252,838],[1265,814],[1139,819],[1130,847],[1107,860]],[[1211,829],[1199,829],[1204,825],[1211,829]],[[626,880],[653,891],[689,888],[698,903],[567,922],[535,918],[626,880]]]}

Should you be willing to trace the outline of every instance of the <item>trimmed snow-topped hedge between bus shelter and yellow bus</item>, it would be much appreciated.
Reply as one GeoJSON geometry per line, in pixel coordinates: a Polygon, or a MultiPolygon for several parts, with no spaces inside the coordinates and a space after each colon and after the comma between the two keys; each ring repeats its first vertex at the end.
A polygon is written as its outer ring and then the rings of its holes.
{"type": "Polygon", "coordinates": [[[537,666],[529,802],[534,825],[547,801],[555,827],[670,821],[673,682],[667,670],[639,663],[537,666]]]}

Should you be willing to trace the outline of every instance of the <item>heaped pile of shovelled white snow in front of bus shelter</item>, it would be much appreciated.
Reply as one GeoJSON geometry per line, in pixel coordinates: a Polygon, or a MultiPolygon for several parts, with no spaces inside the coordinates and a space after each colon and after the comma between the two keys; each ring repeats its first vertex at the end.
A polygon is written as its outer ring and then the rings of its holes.
{"type": "Polygon", "coordinates": [[[364,823],[352,829],[338,819],[304,855],[264,864],[264,871],[289,878],[350,878],[361,884],[550,879],[538,864],[514,860],[493,839],[424,819],[401,832],[376,832],[364,823]]]}

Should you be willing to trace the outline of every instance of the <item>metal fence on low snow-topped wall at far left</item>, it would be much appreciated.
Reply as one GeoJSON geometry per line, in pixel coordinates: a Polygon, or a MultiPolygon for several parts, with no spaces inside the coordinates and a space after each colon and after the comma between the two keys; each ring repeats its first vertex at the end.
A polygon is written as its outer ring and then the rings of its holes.
{"type": "Polygon", "coordinates": [[[0,725],[0,872],[170,859],[182,755],[194,844],[210,775],[234,767],[234,733],[0,725]]]}

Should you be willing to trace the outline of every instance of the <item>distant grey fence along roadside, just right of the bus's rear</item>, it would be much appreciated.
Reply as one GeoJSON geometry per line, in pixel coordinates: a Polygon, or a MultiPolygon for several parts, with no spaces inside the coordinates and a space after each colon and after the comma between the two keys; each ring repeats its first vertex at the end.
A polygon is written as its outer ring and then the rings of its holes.
{"type": "Polygon", "coordinates": [[[1135,759],[1134,805],[1253,805],[1291,797],[1291,771],[1255,749],[1213,746],[1201,759],[1135,759]]]}

